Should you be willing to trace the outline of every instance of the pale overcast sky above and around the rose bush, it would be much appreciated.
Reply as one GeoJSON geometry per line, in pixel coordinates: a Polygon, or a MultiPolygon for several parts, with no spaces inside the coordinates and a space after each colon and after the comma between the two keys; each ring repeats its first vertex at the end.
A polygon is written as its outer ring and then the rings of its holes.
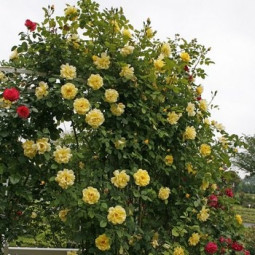
{"type": "MultiPolygon", "coordinates": [[[[255,1],[254,0],[98,0],[102,7],[124,8],[136,28],[150,17],[157,37],[165,40],[176,33],[187,40],[211,47],[216,63],[207,69],[203,81],[207,100],[218,91],[214,104],[220,110],[213,119],[235,134],[255,134],[255,1]]],[[[18,43],[24,22],[43,20],[42,7],[55,5],[63,14],[65,4],[75,0],[1,0],[0,59],[8,59],[18,43]]]]}

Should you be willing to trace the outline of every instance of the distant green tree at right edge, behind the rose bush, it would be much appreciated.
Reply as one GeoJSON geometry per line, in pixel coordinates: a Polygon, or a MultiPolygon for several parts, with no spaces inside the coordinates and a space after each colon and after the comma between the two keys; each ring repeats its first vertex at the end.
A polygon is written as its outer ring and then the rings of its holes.
{"type": "Polygon", "coordinates": [[[246,149],[238,153],[234,164],[250,175],[255,174],[255,135],[245,136],[246,149]]]}

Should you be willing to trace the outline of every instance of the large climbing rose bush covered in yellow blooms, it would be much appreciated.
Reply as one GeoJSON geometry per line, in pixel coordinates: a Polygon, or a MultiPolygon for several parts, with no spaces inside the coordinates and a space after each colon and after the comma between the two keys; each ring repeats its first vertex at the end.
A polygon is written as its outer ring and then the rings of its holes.
{"type": "Polygon", "coordinates": [[[150,20],[135,30],[122,9],[77,5],[28,22],[8,65],[31,73],[1,75],[0,232],[14,240],[47,219],[82,254],[241,243],[225,171],[241,143],[201,98],[210,49],[178,35],[162,43],[150,20]]]}

